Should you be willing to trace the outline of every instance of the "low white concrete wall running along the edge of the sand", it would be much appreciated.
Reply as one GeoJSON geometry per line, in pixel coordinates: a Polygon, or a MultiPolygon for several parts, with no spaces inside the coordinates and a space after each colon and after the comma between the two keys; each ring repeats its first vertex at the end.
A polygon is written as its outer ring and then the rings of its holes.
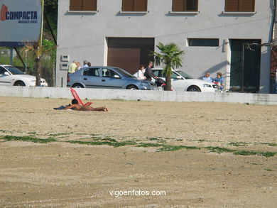
{"type": "MultiPolygon", "coordinates": [[[[123,99],[156,102],[227,102],[277,104],[277,94],[143,91],[128,89],[76,89],[81,99],[123,99]]],[[[72,99],[70,88],[0,86],[1,97],[72,99]]]]}

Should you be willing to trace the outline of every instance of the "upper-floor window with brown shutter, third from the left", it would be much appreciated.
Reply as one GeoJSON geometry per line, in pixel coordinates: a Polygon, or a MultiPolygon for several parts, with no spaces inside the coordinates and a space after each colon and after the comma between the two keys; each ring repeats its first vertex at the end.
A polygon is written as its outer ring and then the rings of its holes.
{"type": "Polygon", "coordinates": [[[198,11],[198,0],[173,0],[172,11],[198,11]]]}

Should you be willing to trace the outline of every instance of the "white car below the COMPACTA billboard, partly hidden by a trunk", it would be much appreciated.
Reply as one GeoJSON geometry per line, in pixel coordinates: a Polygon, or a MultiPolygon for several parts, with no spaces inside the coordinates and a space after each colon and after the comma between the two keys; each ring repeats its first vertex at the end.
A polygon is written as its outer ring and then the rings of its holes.
{"type": "MultiPolygon", "coordinates": [[[[40,86],[47,87],[48,83],[40,78],[40,86]]],[[[36,77],[26,75],[11,65],[0,65],[0,86],[36,86],[36,77]]]]}

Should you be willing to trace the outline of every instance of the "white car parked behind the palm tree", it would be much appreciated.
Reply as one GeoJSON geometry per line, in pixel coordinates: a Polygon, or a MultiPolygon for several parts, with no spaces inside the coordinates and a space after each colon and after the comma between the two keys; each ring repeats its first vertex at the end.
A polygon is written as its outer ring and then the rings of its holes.
{"type": "MultiPolygon", "coordinates": [[[[154,68],[152,69],[152,71],[154,75],[156,75],[156,77],[165,80],[163,69],[154,68]]],[[[153,78],[152,81],[155,82],[153,78]]],[[[217,92],[217,84],[204,80],[194,79],[181,70],[173,71],[173,74],[171,75],[171,85],[172,89],[175,91],[217,92]]]]}

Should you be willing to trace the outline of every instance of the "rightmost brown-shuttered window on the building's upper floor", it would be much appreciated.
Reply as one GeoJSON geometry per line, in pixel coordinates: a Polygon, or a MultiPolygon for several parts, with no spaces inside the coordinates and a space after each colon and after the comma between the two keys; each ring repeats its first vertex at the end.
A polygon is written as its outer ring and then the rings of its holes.
{"type": "Polygon", "coordinates": [[[225,11],[255,11],[255,0],[225,0],[225,11]]]}

